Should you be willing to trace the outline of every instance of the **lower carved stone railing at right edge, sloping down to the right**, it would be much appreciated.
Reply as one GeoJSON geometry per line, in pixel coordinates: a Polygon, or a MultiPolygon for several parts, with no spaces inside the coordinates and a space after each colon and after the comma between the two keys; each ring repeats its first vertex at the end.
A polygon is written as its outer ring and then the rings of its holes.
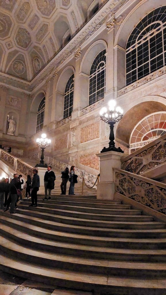
{"type": "Polygon", "coordinates": [[[114,168],[115,191],[166,214],[166,184],[114,168]]]}

